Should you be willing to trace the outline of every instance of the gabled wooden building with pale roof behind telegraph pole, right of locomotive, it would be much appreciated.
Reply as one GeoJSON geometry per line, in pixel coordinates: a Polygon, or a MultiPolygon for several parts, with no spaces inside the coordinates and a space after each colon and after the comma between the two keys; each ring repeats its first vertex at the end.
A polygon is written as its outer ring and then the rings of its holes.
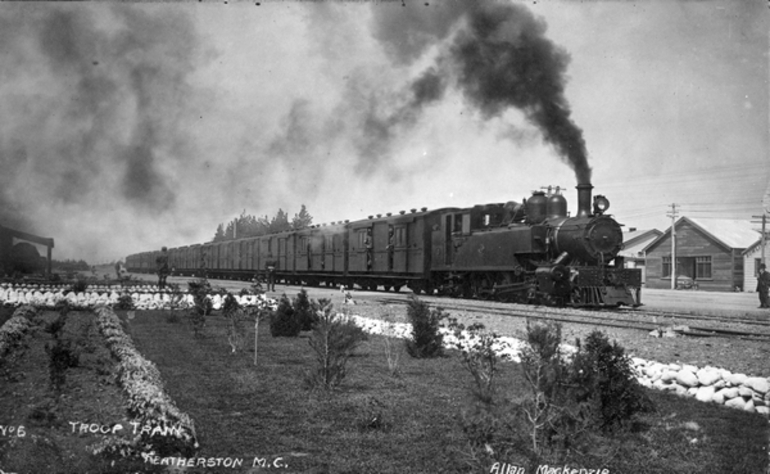
{"type": "MultiPolygon", "coordinates": [[[[744,251],[759,238],[749,221],[681,217],[676,229],[677,282],[705,291],[742,291],[744,251]]],[[[671,228],[646,248],[647,287],[671,288],[671,228]]]]}

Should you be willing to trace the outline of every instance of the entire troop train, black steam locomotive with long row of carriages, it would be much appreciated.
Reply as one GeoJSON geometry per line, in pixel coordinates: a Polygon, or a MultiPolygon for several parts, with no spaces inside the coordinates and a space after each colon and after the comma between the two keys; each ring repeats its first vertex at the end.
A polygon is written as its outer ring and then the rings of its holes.
{"type": "MultiPolygon", "coordinates": [[[[259,237],[169,249],[176,275],[276,280],[309,286],[497,299],[555,306],[638,306],[641,271],[624,268],[621,226],[609,201],[577,186],[578,210],[555,192],[523,203],[369,216],[259,237]],[[205,269],[205,270],[204,270],[205,269]]],[[[130,255],[131,272],[155,271],[158,251],[130,255]]]]}

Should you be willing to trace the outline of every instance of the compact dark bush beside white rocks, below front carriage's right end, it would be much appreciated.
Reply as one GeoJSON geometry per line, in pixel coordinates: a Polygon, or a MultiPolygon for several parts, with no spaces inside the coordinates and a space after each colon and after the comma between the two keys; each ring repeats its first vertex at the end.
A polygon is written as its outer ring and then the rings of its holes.
{"type": "Polygon", "coordinates": [[[407,315],[412,323],[412,338],[406,341],[409,355],[417,359],[441,356],[443,336],[439,329],[441,320],[447,314],[441,308],[431,310],[427,303],[411,296],[407,304],[407,315]]]}

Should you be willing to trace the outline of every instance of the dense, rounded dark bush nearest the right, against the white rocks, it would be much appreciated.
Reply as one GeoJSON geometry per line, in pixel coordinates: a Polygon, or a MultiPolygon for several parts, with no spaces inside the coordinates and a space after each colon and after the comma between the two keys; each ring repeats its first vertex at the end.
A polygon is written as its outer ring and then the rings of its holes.
{"type": "Polygon", "coordinates": [[[602,431],[623,427],[638,413],[652,409],[652,401],[637,382],[625,351],[617,342],[593,331],[575,345],[568,384],[571,398],[588,406],[593,424],[602,431]]]}

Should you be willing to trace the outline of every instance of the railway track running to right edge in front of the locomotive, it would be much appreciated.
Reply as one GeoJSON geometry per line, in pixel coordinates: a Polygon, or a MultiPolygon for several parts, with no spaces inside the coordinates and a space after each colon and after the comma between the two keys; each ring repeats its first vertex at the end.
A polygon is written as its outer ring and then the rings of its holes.
{"type": "MultiPolygon", "coordinates": [[[[660,330],[666,326],[677,327],[675,324],[673,324],[673,321],[671,321],[672,324],[665,324],[661,323],[658,318],[665,318],[668,320],[686,319],[706,322],[728,322],[730,324],[751,325],[752,328],[747,327],[745,329],[735,329],[718,326],[683,326],[680,324],[675,332],[683,336],[690,337],[723,337],[770,341],[770,323],[754,319],[736,320],[724,317],[700,317],[687,313],[664,311],[645,312],[627,309],[588,311],[574,308],[549,308],[542,306],[528,308],[522,305],[515,305],[510,303],[479,303],[473,300],[447,300],[438,297],[427,297],[424,299],[430,304],[440,306],[448,311],[466,311],[470,313],[494,314],[500,316],[529,318],[559,323],[584,324],[621,329],[636,329],[646,333],[650,333],[654,330],[660,330]]],[[[405,303],[404,299],[395,297],[374,298],[374,301],[385,304],[405,303]]]]}

